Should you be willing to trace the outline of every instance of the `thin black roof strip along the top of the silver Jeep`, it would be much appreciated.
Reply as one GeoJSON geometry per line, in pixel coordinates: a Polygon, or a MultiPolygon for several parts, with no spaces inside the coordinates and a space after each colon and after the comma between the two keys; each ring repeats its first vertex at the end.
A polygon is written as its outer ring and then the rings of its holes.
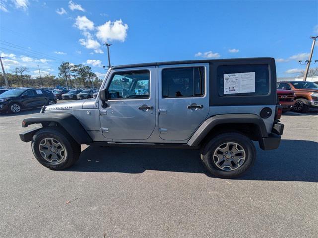
{"type": "Polygon", "coordinates": [[[255,57],[255,58],[230,58],[230,59],[209,59],[209,60],[182,60],[182,61],[167,61],[167,62],[153,62],[153,63],[137,63],[112,66],[113,69],[120,68],[137,68],[137,67],[150,67],[158,65],[171,65],[171,64],[190,64],[190,63],[213,63],[219,61],[231,62],[231,61],[244,61],[244,60],[275,60],[272,57],[255,57]]]}

